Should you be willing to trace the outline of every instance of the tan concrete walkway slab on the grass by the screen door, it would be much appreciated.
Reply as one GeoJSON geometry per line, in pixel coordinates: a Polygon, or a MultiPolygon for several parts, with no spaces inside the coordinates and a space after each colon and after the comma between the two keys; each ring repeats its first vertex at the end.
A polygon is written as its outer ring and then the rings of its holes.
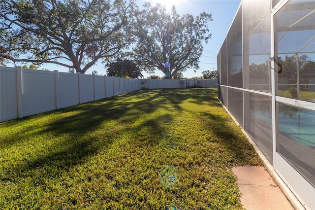
{"type": "Polygon", "coordinates": [[[232,170],[238,178],[241,202],[245,209],[294,210],[264,167],[242,166],[232,170]]]}

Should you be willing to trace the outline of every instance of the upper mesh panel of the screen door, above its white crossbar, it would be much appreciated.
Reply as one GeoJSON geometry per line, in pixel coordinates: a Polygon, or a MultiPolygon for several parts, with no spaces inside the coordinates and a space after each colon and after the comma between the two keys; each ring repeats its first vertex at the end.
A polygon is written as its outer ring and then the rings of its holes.
{"type": "Polygon", "coordinates": [[[314,0],[292,0],[275,15],[278,96],[315,101],[314,11],[314,0]]]}

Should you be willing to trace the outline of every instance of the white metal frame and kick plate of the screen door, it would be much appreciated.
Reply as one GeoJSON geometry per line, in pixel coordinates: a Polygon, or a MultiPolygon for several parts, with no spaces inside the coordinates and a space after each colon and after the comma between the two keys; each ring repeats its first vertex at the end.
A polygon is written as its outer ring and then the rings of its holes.
{"type": "Polygon", "coordinates": [[[298,99],[285,98],[281,96],[276,96],[278,88],[276,86],[276,72],[275,72],[275,59],[277,59],[278,47],[276,44],[279,40],[275,40],[275,24],[277,24],[277,20],[275,20],[275,15],[279,10],[281,10],[286,3],[290,0],[281,0],[274,9],[271,11],[271,85],[272,85],[272,136],[273,136],[273,166],[275,171],[281,176],[284,183],[290,188],[290,190],[294,193],[294,195],[299,199],[302,205],[306,209],[315,209],[315,188],[300,175],[278,152],[277,152],[277,110],[276,103],[284,103],[287,105],[292,105],[301,108],[307,108],[315,111],[315,103],[300,101],[298,99]]]}

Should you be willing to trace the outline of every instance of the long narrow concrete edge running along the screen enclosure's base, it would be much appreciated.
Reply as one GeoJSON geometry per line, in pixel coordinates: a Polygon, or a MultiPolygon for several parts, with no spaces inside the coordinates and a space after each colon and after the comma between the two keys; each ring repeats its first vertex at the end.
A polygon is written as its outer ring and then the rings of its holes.
{"type": "MultiPolygon", "coordinates": [[[[219,101],[220,102],[220,101],[219,101]]],[[[221,102],[220,102],[221,103],[221,102]]],[[[228,114],[232,117],[234,122],[240,126],[242,129],[243,134],[246,136],[246,138],[249,140],[249,142],[254,147],[255,151],[257,152],[258,156],[262,160],[265,169],[269,173],[269,175],[274,179],[276,184],[279,186],[281,191],[284,193],[284,196],[287,198],[287,200],[291,203],[292,207],[295,210],[306,210],[305,207],[301,204],[301,202],[296,198],[296,196],[293,194],[293,192],[289,189],[289,187],[284,183],[282,178],[278,175],[278,173],[275,171],[273,165],[267,160],[267,158],[263,155],[263,153],[260,151],[258,146],[254,143],[252,138],[245,132],[243,127],[237,122],[237,120],[233,117],[233,115],[229,112],[229,110],[221,103],[221,105],[225,108],[225,110],[228,112],[228,114]]]]}

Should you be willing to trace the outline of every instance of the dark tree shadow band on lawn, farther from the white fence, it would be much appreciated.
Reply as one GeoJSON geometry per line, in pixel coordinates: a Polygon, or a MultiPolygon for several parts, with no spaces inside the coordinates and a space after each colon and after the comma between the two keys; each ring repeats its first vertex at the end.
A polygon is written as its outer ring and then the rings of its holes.
{"type": "MultiPolygon", "coordinates": [[[[135,115],[134,117],[139,116],[135,115]]],[[[93,118],[91,119],[93,120],[93,118]]],[[[25,157],[23,161],[13,163],[14,166],[9,169],[8,174],[1,173],[0,180],[11,181],[16,178],[23,178],[30,175],[32,170],[35,169],[42,169],[40,173],[44,173],[45,176],[59,176],[63,170],[68,170],[74,165],[84,164],[90,156],[96,155],[100,150],[110,149],[112,144],[124,136],[125,133],[131,132],[137,136],[136,142],[133,142],[136,143],[137,147],[158,144],[159,139],[150,138],[150,136],[165,131],[167,126],[163,122],[170,122],[171,120],[172,116],[170,114],[161,114],[154,119],[144,120],[136,126],[126,124],[115,131],[104,130],[99,134],[101,137],[94,137],[93,132],[97,129],[95,126],[85,127],[85,129],[73,127],[72,130],[63,130],[63,132],[75,134],[54,142],[50,145],[53,149],[47,150],[46,153],[41,152],[33,157],[25,157]],[[56,168],[58,171],[55,170],[56,168]]],[[[63,135],[64,133],[60,134],[63,135]]]]}

